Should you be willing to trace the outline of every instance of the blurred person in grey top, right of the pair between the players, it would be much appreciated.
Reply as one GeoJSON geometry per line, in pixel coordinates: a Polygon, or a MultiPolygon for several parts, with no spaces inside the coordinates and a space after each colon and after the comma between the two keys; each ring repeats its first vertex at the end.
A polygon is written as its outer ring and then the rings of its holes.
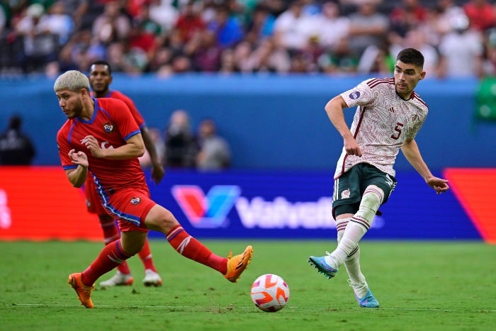
{"type": "Polygon", "coordinates": [[[231,152],[227,141],[217,134],[215,122],[207,118],[198,126],[196,168],[200,170],[221,170],[230,167],[231,152]]]}

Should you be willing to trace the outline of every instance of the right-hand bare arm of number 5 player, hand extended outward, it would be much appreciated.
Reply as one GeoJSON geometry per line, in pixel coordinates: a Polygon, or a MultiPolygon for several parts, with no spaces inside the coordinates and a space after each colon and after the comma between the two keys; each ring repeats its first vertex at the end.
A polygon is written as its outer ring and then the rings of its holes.
{"type": "Polygon", "coordinates": [[[427,185],[431,186],[436,193],[439,194],[448,191],[448,181],[446,179],[438,178],[431,173],[429,167],[427,167],[427,164],[424,162],[424,159],[422,159],[422,155],[420,155],[419,146],[415,139],[406,140],[401,147],[401,151],[408,162],[412,164],[412,167],[414,167],[420,176],[422,176],[427,185]]]}

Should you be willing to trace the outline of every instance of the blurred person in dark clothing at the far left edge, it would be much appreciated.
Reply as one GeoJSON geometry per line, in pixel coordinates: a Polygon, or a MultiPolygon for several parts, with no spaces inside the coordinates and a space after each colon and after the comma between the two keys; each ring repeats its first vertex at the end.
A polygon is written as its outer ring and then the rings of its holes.
{"type": "Polygon", "coordinates": [[[9,128],[0,135],[0,164],[29,165],[36,155],[30,138],[21,132],[23,121],[14,115],[9,120],[9,128]]]}

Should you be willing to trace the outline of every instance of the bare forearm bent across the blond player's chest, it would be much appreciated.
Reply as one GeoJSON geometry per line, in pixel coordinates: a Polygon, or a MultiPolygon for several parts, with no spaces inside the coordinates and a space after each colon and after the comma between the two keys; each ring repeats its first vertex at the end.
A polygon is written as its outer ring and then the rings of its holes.
{"type": "Polygon", "coordinates": [[[101,148],[98,140],[92,135],[87,135],[81,143],[88,148],[94,157],[103,159],[134,159],[145,153],[145,143],[141,133],[132,135],[125,141],[125,145],[115,148],[101,148]]]}

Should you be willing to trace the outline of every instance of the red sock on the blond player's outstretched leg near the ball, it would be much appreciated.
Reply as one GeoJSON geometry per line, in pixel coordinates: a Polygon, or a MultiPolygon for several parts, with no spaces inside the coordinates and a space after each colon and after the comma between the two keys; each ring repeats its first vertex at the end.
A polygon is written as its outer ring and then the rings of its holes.
{"type": "Polygon", "coordinates": [[[182,256],[215,269],[221,274],[227,272],[227,258],[213,254],[201,242],[188,235],[188,232],[181,225],[172,228],[167,233],[166,238],[169,244],[182,256]]]}

